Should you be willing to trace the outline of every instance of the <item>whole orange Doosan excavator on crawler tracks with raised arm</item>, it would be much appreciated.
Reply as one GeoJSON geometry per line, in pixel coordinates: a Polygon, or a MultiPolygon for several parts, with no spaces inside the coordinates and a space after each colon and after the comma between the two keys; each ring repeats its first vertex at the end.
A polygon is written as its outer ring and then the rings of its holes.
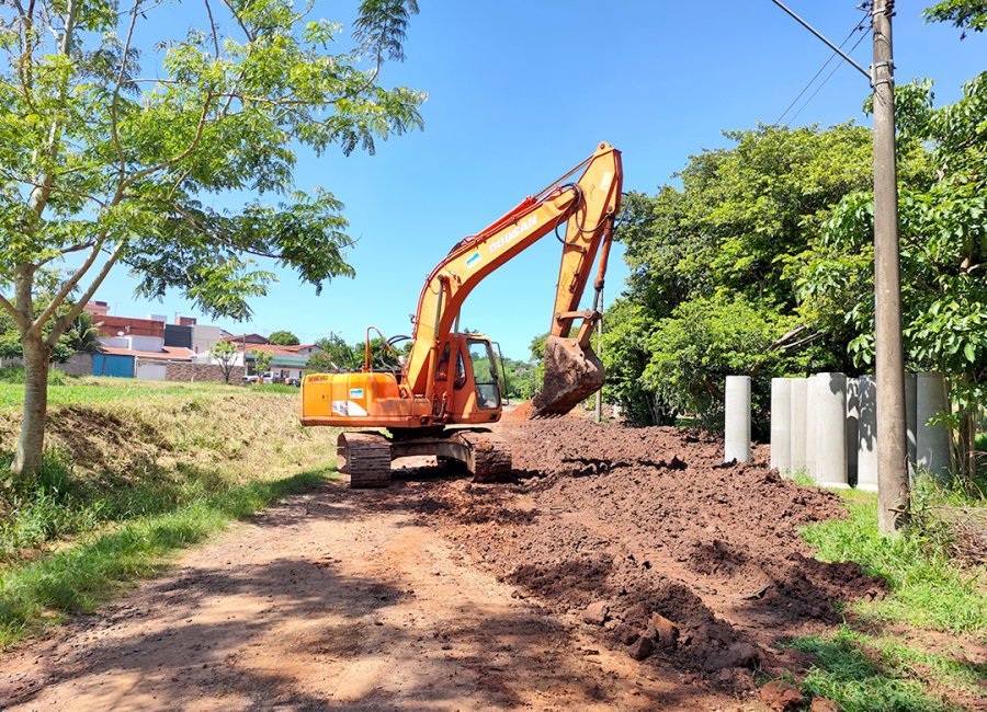
{"type": "Polygon", "coordinates": [[[532,416],[564,415],[603,387],[603,365],[590,336],[603,307],[622,182],[620,151],[600,143],[544,191],[453,246],[421,290],[413,336],[378,342],[385,356],[375,358],[371,333],[379,331],[371,326],[361,371],[305,377],[303,425],[364,428],[339,436],[339,470],[350,475],[350,486],[387,486],[392,460],[417,455],[435,456],[440,464],[461,463],[477,481],[510,472],[510,450],[483,427],[502,412],[494,344],[483,334],[460,333],[460,310],[485,277],[549,233],[561,243],[561,267],[544,382],[532,401],[532,416]],[[598,255],[594,308],[578,311],[598,255]],[[404,338],[412,340],[407,358],[395,348],[404,338]]]}

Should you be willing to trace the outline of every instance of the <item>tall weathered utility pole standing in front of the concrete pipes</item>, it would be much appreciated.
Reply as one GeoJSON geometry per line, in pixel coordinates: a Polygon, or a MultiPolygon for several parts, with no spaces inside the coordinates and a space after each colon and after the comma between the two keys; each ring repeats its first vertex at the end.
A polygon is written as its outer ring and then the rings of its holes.
{"type": "Polygon", "coordinates": [[[877,528],[894,535],[908,514],[905,349],[898,176],[895,161],[894,0],[874,0],[874,348],[877,384],[877,528]]]}

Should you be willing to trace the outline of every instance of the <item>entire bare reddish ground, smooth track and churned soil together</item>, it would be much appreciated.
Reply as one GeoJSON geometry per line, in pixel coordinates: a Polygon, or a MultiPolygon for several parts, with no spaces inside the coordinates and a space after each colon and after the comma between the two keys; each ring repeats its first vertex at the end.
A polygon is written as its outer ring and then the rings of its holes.
{"type": "MultiPolygon", "coordinates": [[[[833,604],[835,495],[673,428],[508,418],[510,482],[322,487],[2,661],[12,709],[738,709],[833,604]]],[[[761,456],[764,453],[761,452],[761,456]]],[[[421,464],[421,463],[419,463],[421,464]]]]}

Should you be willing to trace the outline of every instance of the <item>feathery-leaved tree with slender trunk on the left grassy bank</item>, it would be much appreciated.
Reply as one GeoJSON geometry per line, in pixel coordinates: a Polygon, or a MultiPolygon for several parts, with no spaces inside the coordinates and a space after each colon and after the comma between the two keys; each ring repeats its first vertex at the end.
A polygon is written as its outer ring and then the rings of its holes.
{"type": "Polygon", "coordinates": [[[404,58],[415,0],[362,0],[352,49],[314,2],[181,11],[191,28],[156,37],[141,67],[135,30],[173,3],[0,0],[0,308],[26,371],[16,475],[41,464],[49,356],[116,264],[144,297],[177,288],[236,319],[274,278],[252,257],[317,290],[352,275],[342,205],[296,190],[296,152],[373,152],[421,125],[424,95],[381,84],[384,61],[404,58]],[[202,200],[229,191],[276,199],[239,211],[202,200]]]}

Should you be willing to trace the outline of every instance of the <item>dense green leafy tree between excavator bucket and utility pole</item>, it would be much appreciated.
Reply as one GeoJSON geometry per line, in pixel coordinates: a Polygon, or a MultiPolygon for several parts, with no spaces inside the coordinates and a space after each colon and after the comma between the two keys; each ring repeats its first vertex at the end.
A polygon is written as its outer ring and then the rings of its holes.
{"type": "MultiPolygon", "coordinates": [[[[798,267],[833,206],[869,185],[870,131],[848,123],[725,136],[733,146],[690,157],[681,187],[625,203],[617,239],[631,278],[603,322],[604,395],[635,420],[684,409],[713,424],[728,372],[760,377],[760,403],[771,375],[849,364],[854,333],[801,308],[798,267]]],[[[901,173],[929,173],[920,148],[905,148],[901,173]]]]}

